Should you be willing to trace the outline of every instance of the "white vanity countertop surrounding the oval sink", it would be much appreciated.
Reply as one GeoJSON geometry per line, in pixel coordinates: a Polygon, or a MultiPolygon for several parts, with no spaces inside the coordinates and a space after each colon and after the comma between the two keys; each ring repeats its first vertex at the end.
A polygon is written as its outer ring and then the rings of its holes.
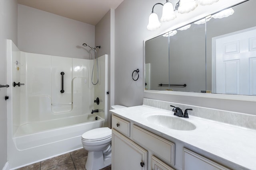
{"type": "Polygon", "coordinates": [[[233,166],[238,164],[243,167],[242,169],[256,170],[256,131],[252,129],[189,116],[188,119],[183,117],[178,118],[193,123],[196,125],[196,129],[192,131],[180,131],[161,127],[160,125],[150,123],[146,119],[149,115],[174,116],[173,111],[144,105],[111,111],[116,115],[148,127],[147,130],[149,131],[150,129],[154,129],[163,135],[168,135],[169,137],[228,160],[234,163],[233,166]]]}

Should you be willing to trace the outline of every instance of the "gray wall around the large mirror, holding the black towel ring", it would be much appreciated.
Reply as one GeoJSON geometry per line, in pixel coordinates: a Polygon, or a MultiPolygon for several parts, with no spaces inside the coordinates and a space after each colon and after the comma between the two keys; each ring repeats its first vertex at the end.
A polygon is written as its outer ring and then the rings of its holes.
{"type": "MultiPolygon", "coordinates": [[[[115,104],[141,105],[144,97],[255,114],[255,102],[156,94],[143,91],[144,39],[159,35],[168,28],[168,30],[175,29],[238,2],[242,2],[242,0],[219,1],[207,10],[202,10],[202,6],[200,6],[195,12],[179,15],[176,20],[163,23],[162,27],[156,31],[148,31],[146,28],[148,16],[156,4],[155,0],[148,0],[146,3],[144,0],[124,0],[115,10],[115,104]],[[140,69],[140,78],[134,82],[131,75],[136,68],[140,69]]],[[[162,7],[156,7],[154,11],[161,15],[162,7]]]]}

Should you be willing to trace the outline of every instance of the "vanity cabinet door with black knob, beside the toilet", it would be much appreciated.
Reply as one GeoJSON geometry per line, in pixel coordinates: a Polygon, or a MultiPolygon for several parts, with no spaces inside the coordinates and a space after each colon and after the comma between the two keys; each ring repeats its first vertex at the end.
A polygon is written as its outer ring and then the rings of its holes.
{"type": "Polygon", "coordinates": [[[112,129],[112,170],[147,170],[148,151],[112,129]]]}

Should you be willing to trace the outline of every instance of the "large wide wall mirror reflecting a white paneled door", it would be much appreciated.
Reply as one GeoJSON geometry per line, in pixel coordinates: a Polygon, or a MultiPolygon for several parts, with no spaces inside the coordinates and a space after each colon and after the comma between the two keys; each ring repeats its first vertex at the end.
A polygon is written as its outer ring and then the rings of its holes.
{"type": "Polygon", "coordinates": [[[145,41],[145,89],[255,96],[255,6],[248,0],[228,16],[212,14],[145,41]]]}

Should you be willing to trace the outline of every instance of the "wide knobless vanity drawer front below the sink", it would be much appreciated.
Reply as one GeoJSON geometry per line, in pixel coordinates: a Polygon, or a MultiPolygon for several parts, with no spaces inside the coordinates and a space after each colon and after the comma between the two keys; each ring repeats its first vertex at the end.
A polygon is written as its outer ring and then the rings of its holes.
{"type": "Polygon", "coordinates": [[[136,125],[132,125],[132,138],[134,141],[144,145],[152,150],[161,159],[174,165],[175,162],[175,144],[159,137],[149,131],[146,131],[136,125]]]}

